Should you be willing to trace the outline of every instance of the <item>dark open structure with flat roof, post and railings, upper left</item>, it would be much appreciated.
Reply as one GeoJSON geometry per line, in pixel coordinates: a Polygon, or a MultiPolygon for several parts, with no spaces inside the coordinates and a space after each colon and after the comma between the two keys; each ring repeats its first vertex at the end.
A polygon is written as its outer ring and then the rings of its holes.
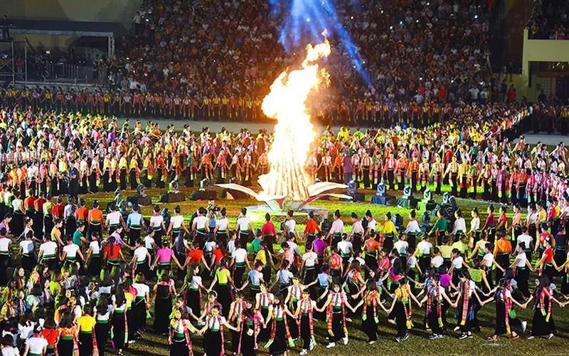
{"type": "MultiPolygon", "coordinates": [[[[92,79],[92,66],[87,61],[78,61],[75,56],[50,56],[49,51],[39,53],[27,41],[27,36],[73,36],[75,38],[105,38],[107,57],[115,55],[115,38],[126,32],[121,23],[86,22],[86,21],[42,21],[42,20],[11,20],[13,28],[10,33],[13,38],[26,41],[26,57],[24,67],[26,76],[14,78],[16,84],[34,83],[88,83],[92,79]]],[[[20,53],[21,55],[21,53],[20,53]]],[[[16,58],[18,56],[15,53],[16,58]]],[[[16,66],[17,67],[17,66],[16,66]]],[[[17,68],[16,68],[17,71],[17,68]]]]}

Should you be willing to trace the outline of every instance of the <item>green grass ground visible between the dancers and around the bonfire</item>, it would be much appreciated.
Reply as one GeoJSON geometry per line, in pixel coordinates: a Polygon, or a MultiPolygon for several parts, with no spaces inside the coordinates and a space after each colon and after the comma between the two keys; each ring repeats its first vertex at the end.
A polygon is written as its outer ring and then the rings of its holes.
{"type": "MultiPolygon", "coordinates": [[[[190,194],[191,190],[183,189],[186,193],[186,197],[190,194]]],[[[370,201],[371,191],[366,192],[366,201],[370,201]]],[[[130,192],[124,192],[124,196],[128,196],[130,192]]],[[[159,192],[156,189],[149,189],[148,194],[155,200],[159,192]]],[[[390,192],[393,193],[393,192],[390,192]]],[[[132,194],[132,193],[131,193],[132,194]]],[[[87,200],[87,206],[93,199],[98,199],[102,206],[106,206],[107,202],[112,199],[111,194],[92,194],[85,197],[87,200]]],[[[440,197],[435,197],[435,200],[440,200],[440,197]]],[[[464,216],[467,221],[469,221],[469,211],[477,206],[481,212],[481,219],[484,221],[486,214],[486,207],[490,204],[487,201],[473,201],[470,199],[457,199],[459,207],[464,212],[464,216]]],[[[161,206],[168,207],[171,211],[174,210],[176,205],[181,206],[181,211],[186,216],[186,221],[188,221],[189,216],[195,211],[199,206],[205,206],[206,201],[184,201],[182,203],[176,204],[161,204],[161,206]]],[[[230,217],[230,227],[234,229],[235,227],[235,217],[238,216],[238,211],[242,206],[248,206],[253,204],[258,204],[257,201],[253,199],[241,199],[241,200],[222,200],[218,199],[216,204],[219,206],[225,206],[228,211],[228,216],[230,217]]],[[[370,209],[378,222],[383,222],[383,216],[387,211],[391,211],[392,214],[399,213],[405,217],[405,224],[408,219],[408,210],[401,209],[393,206],[378,206],[368,203],[351,203],[351,202],[341,202],[332,200],[319,200],[314,202],[314,206],[323,206],[330,211],[339,209],[343,216],[344,223],[346,224],[346,229],[349,230],[351,226],[349,214],[351,212],[356,212],[358,216],[365,213],[367,209],[370,209]]],[[[142,209],[145,216],[151,214],[151,207],[145,206],[142,209]]],[[[509,212],[511,216],[511,211],[509,212]]],[[[255,228],[260,227],[262,221],[255,222],[255,228]]],[[[298,226],[298,229],[304,229],[304,226],[298,226]]],[[[278,227],[277,227],[278,229],[278,227]]],[[[302,230],[299,230],[302,231],[302,230]]],[[[299,244],[302,246],[302,241],[299,244]]],[[[274,275],[273,275],[274,276],[274,275]]],[[[181,283],[176,283],[176,287],[179,288],[181,283]]],[[[390,305],[390,302],[387,302],[390,305]]],[[[560,309],[557,305],[553,307],[553,315],[555,318],[555,325],[558,330],[558,335],[552,340],[534,339],[525,340],[523,337],[521,340],[511,341],[506,339],[499,339],[498,342],[489,343],[486,341],[485,337],[491,335],[494,331],[494,304],[489,303],[485,305],[480,311],[478,317],[482,326],[482,330],[479,333],[474,334],[474,338],[467,340],[457,340],[458,333],[453,333],[452,328],[454,327],[453,313],[454,309],[451,309],[447,314],[447,319],[450,320],[452,327],[448,330],[447,336],[442,340],[430,341],[427,340],[427,333],[422,330],[422,317],[424,315],[424,307],[422,309],[417,308],[413,305],[413,321],[415,323],[415,328],[410,333],[410,338],[402,343],[395,342],[395,325],[390,325],[387,323],[387,315],[381,313],[380,315],[380,330],[378,342],[374,345],[368,345],[366,335],[361,331],[361,322],[359,320],[354,320],[353,323],[349,323],[348,330],[350,335],[350,340],[348,345],[337,345],[333,349],[326,349],[326,323],[320,321],[315,323],[314,330],[317,340],[317,347],[309,352],[309,355],[350,355],[350,354],[383,354],[383,355],[565,355],[569,354],[569,309],[560,309]]],[[[531,318],[533,313],[531,310],[519,310],[516,308],[519,318],[521,320],[528,321],[528,328],[531,328],[531,318]]],[[[154,317],[154,310],[151,310],[152,318],[154,317]]],[[[151,320],[149,320],[149,325],[151,325],[151,320]]],[[[528,332],[526,332],[527,335],[528,332]]],[[[229,335],[225,337],[225,352],[229,353],[232,350],[232,345],[228,342],[230,341],[229,335]]],[[[193,337],[193,352],[195,355],[203,354],[203,337],[194,335],[193,337]]],[[[297,342],[297,347],[291,350],[292,354],[297,354],[301,350],[301,342],[297,342]]],[[[125,352],[129,355],[168,355],[169,346],[167,344],[166,337],[160,337],[153,335],[151,333],[146,333],[142,340],[129,345],[129,350],[125,352]]],[[[266,353],[260,345],[260,354],[266,353]]]]}

